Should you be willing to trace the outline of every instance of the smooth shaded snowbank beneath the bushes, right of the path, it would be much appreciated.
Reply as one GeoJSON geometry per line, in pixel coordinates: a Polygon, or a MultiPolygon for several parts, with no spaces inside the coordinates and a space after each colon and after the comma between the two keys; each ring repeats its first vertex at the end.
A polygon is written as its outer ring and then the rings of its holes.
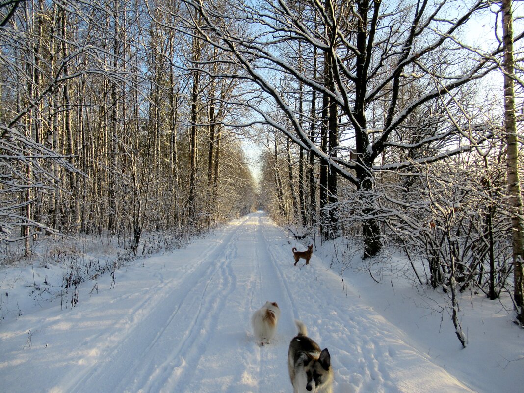
{"type": "MultiPolygon", "coordinates": [[[[316,254],[331,260],[333,245],[316,254]]],[[[459,319],[467,339],[463,348],[451,320],[450,295],[416,285],[406,260],[370,263],[355,256],[349,259],[352,261],[343,267],[331,263],[332,270],[339,272],[360,301],[394,324],[403,341],[475,391],[522,391],[524,331],[513,321],[507,293],[495,301],[482,292],[459,293],[459,319]]]]}

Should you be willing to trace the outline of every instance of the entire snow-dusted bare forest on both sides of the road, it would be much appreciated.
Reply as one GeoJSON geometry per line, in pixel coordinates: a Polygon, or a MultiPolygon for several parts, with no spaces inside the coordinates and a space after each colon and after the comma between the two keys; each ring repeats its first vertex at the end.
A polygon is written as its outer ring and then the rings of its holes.
{"type": "Polygon", "coordinates": [[[508,292],[524,323],[523,11],[7,0],[0,253],[90,235],[136,254],[262,209],[299,239],[401,253],[453,310],[508,292]]]}

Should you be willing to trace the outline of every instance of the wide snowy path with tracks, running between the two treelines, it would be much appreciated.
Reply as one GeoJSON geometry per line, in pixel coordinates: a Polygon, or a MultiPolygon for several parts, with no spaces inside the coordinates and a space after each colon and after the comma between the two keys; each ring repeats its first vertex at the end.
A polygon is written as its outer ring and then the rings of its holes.
{"type": "Polygon", "coordinates": [[[146,259],[83,288],[79,306],[49,307],[0,325],[0,391],[291,392],[286,357],[300,319],[335,369],[334,392],[471,392],[407,345],[313,255],[291,247],[264,213],[187,249],[146,259]],[[278,302],[274,341],[256,345],[250,318],[278,302]]]}

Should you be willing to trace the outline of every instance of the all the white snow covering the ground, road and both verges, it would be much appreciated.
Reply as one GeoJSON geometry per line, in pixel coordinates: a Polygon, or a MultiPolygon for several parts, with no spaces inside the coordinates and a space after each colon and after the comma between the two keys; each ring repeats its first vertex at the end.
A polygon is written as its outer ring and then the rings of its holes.
{"type": "Polygon", "coordinates": [[[522,330],[500,302],[461,300],[462,349],[434,291],[370,266],[377,284],[358,258],[330,269],[328,245],[294,267],[292,247],[304,248],[257,212],[117,270],[114,288],[109,274],[97,291],[82,283],[78,306],[63,311],[60,299],[27,301],[30,266],[4,268],[0,391],[290,392],[295,319],[329,349],[335,393],[522,391],[522,330]],[[281,316],[259,346],[250,319],[267,300],[281,316]]]}

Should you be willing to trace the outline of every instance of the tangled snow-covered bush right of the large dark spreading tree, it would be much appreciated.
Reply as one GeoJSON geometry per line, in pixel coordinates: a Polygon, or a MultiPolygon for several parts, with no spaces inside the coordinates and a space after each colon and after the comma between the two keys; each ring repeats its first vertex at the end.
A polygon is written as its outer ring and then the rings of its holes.
{"type": "Polygon", "coordinates": [[[425,261],[418,275],[433,288],[450,285],[453,263],[459,290],[471,286],[495,299],[511,272],[504,179],[476,169],[454,161],[419,172],[385,223],[394,244],[425,261]]]}

